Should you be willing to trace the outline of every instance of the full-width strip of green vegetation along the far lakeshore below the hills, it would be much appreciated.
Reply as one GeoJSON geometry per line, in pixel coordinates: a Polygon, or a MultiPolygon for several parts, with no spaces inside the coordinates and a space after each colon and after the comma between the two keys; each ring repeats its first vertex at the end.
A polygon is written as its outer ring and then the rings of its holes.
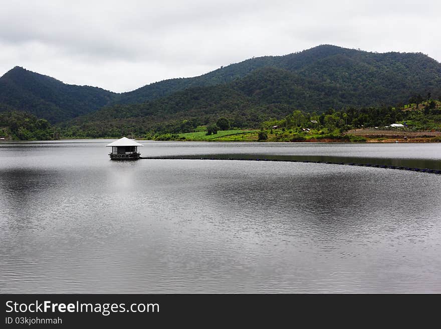
{"type": "MultiPolygon", "coordinates": [[[[415,96],[419,99],[419,96],[415,96]]],[[[410,100],[414,100],[411,98],[410,100]]],[[[182,120],[170,122],[163,130],[146,130],[145,125],[137,122],[139,133],[131,130],[109,130],[103,125],[106,133],[84,131],[78,126],[60,129],[52,127],[44,119],[38,119],[26,112],[11,111],[0,114],[0,137],[13,140],[50,140],[58,138],[116,138],[129,136],[132,138],[160,141],[272,141],[272,142],[303,142],[303,141],[339,141],[363,142],[370,135],[380,132],[387,135],[400,134],[413,137],[429,135],[433,137],[424,141],[439,141],[441,135],[441,102],[421,100],[419,104],[410,103],[398,107],[387,108],[348,108],[340,111],[330,109],[324,113],[307,113],[294,110],[281,119],[271,119],[253,123],[256,128],[234,127],[234,120],[220,117],[211,123],[201,124],[201,120],[182,120]],[[402,123],[403,128],[388,127],[392,123],[402,123]],[[233,127],[230,128],[230,127],[233,127]],[[359,131],[359,129],[362,131],[359,131]],[[367,129],[367,128],[370,128],[367,129]],[[142,130],[144,129],[144,130],[142,130]],[[357,130],[354,133],[354,130],[357,130]],[[386,130],[386,132],[384,132],[386,130]],[[351,133],[348,133],[351,132],[351,133]],[[427,132],[427,134],[416,134],[427,132]],[[434,134],[429,134],[434,133],[434,134]],[[354,136],[359,135],[359,136],[354,136]],[[437,136],[437,137],[436,137],[437,136]]],[[[95,128],[96,129],[96,128],[95,128]]],[[[378,141],[387,138],[377,136],[378,141]]],[[[426,136],[427,137],[427,136],[426,136]]]]}

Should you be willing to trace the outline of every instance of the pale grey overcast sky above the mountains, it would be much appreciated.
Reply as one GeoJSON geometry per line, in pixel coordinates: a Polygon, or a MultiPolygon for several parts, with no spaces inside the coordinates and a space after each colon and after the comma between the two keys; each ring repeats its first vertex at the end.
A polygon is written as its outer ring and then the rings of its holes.
{"type": "Polygon", "coordinates": [[[0,75],[130,91],[320,44],[441,62],[441,1],[0,0],[0,75]]]}

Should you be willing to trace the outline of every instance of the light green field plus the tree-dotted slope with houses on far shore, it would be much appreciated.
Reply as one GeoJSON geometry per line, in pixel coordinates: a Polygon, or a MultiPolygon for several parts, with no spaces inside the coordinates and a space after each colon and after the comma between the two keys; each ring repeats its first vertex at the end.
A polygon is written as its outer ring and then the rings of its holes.
{"type": "Polygon", "coordinates": [[[261,124],[260,130],[219,130],[207,134],[199,126],[192,133],[147,134],[147,139],[177,141],[365,142],[387,141],[407,135],[408,141],[441,141],[441,102],[423,101],[397,108],[328,110],[322,114],[295,110],[280,120],[261,124]],[[389,127],[402,123],[403,128],[389,127]],[[369,129],[370,128],[370,129],[369,129]],[[349,133],[348,133],[349,132],[349,133]],[[418,139],[419,138],[419,139],[418,139]]]}

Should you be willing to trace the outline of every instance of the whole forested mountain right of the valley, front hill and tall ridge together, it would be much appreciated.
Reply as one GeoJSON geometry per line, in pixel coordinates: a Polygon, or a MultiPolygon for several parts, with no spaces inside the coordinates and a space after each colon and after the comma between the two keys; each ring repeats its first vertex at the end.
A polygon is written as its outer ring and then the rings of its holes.
{"type": "Polygon", "coordinates": [[[184,120],[191,120],[194,127],[225,116],[232,126],[252,128],[294,109],[320,113],[329,108],[389,106],[407,103],[415,94],[427,98],[429,92],[441,97],[441,64],[426,55],[325,45],[151,84],[118,96],[120,103],[136,99],[139,103],[110,105],[65,127],[77,126],[88,136],[103,137],[123,131],[176,131],[184,120]]]}

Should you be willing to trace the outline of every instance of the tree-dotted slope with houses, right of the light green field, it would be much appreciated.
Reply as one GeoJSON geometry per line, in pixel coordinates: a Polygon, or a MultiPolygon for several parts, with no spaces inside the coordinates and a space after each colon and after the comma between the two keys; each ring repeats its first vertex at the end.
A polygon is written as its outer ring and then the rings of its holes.
{"type": "Polygon", "coordinates": [[[427,100],[419,105],[408,104],[401,108],[349,108],[341,111],[330,109],[322,114],[296,110],[281,120],[264,122],[261,132],[259,140],[274,142],[362,142],[379,134],[425,136],[433,137],[425,141],[439,141],[441,102],[427,100]],[[404,127],[390,127],[392,123],[401,123],[404,127]],[[366,128],[371,129],[366,132],[366,128]],[[419,132],[427,133],[417,134],[419,132]]]}

